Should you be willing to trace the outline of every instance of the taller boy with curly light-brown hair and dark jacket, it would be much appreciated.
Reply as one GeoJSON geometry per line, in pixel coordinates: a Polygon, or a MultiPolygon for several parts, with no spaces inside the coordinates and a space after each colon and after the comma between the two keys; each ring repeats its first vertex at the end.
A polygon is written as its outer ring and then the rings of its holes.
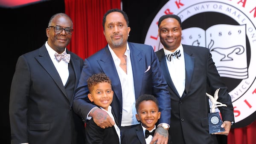
{"type": "MultiPolygon", "coordinates": [[[[87,84],[90,101],[108,112],[113,121],[116,121],[110,106],[113,101],[113,91],[109,77],[105,73],[94,74],[87,79],[87,84]]],[[[86,121],[85,135],[87,144],[120,144],[120,130],[117,124],[113,127],[102,129],[95,124],[93,118],[90,118],[86,121]]]]}

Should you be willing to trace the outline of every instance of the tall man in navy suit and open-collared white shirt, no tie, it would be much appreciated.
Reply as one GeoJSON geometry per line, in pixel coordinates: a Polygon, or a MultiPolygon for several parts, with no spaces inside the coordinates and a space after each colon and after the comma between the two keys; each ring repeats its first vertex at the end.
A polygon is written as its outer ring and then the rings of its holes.
{"type": "Polygon", "coordinates": [[[114,91],[111,107],[122,131],[140,124],[135,114],[135,101],[143,94],[154,95],[159,101],[161,118],[150,144],[167,144],[171,118],[171,99],[167,83],[160,70],[152,46],[128,42],[128,16],[119,9],[111,9],[103,17],[103,33],[108,45],[84,60],[81,78],[76,89],[74,111],[82,118],[93,118],[102,128],[113,127],[114,121],[102,109],[91,104],[87,94],[87,79],[104,72],[112,81],[114,91]]]}

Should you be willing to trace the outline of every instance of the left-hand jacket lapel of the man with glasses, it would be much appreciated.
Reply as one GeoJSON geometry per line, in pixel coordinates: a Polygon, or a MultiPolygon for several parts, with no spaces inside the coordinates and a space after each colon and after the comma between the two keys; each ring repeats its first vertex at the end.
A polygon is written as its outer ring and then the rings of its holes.
{"type": "Polygon", "coordinates": [[[52,77],[53,81],[55,81],[57,86],[61,89],[63,94],[68,99],[67,94],[66,94],[65,89],[64,89],[64,86],[63,86],[62,81],[61,81],[61,77],[58,75],[58,72],[55,69],[54,64],[52,63],[52,60],[51,60],[45,46],[42,46],[39,49],[39,56],[35,57],[35,59],[37,59],[38,62],[44,67],[44,69],[52,77]]]}

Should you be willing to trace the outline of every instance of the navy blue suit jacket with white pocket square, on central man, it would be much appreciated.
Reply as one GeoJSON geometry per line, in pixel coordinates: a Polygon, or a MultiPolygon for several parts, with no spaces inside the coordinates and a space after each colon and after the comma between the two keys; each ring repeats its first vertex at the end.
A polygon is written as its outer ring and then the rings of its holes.
{"type": "MultiPolygon", "coordinates": [[[[131,65],[134,77],[134,89],[136,99],[142,94],[154,95],[160,104],[161,118],[160,123],[169,124],[171,118],[171,100],[167,90],[167,84],[161,72],[159,61],[152,46],[140,43],[129,43],[131,65]],[[145,72],[150,66],[150,69],[145,72]]],[[[122,89],[119,76],[111,53],[106,46],[99,52],[84,60],[84,67],[81,72],[81,78],[76,89],[74,99],[74,111],[81,117],[86,118],[88,112],[95,107],[87,98],[89,92],[87,79],[96,73],[104,72],[111,79],[114,92],[111,107],[119,127],[122,118],[122,89]]]]}

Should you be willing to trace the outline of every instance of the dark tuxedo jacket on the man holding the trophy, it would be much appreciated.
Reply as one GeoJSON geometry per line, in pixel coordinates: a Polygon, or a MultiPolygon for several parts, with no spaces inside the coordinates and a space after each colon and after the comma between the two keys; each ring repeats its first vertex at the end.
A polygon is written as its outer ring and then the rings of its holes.
{"type": "MultiPolygon", "coordinates": [[[[171,94],[172,118],[169,134],[173,144],[212,144],[209,134],[209,101],[206,92],[218,92],[218,101],[227,107],[218,107],[223,121],[234,121],[233,105],[227,87],[212,60],[209,49],[199,46],[182,45],[185,58],[185,90],[180,98],[169,74],[163,49],[156,52],[160,67],[171,94]]],[[[181,54],[183,55],[183,54],[181,54]]]]}

